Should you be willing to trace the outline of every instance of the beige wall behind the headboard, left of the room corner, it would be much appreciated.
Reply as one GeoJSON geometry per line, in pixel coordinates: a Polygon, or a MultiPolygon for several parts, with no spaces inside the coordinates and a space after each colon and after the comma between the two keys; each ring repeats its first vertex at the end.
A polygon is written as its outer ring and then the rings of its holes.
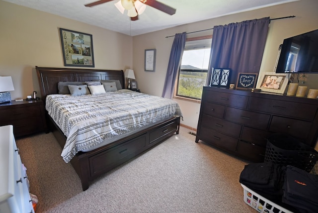
{"type": "Polygon", "coordinates": [[[35,66],[64,67],[60,27],[92,34],[92,69],[132,68],[131,36],[0,0],[0,75],[12,76],[12,99],[40,92],[35,66]]]}

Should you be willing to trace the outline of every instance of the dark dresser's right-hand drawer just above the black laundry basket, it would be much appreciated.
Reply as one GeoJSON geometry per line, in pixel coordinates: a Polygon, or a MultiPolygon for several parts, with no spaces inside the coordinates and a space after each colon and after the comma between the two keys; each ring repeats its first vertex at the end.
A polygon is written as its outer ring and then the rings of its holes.
{"type": "Polygon", "coordinates": [[[311,130],[312,122],[286,117],[273,116],[269,130],[282,132],[297,138],[306,139],[311,130]]]}

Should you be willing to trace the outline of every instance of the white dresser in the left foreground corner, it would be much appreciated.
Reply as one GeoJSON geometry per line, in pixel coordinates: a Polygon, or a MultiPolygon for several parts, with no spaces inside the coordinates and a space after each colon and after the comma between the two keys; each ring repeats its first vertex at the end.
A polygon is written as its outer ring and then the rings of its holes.
{"type": "Polygon", "coordinates": [[[0,126],[0,213],[34,213],[13,126],[0,126]]]}

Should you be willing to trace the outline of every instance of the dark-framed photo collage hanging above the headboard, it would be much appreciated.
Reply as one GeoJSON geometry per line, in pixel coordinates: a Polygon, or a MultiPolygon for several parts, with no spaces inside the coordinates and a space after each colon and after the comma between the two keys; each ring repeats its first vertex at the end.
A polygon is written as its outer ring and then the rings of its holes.
{"type": "Polygon", "coordinates": [[[64,66],[94,67],[92,35],[60,28],[64,66]]]}

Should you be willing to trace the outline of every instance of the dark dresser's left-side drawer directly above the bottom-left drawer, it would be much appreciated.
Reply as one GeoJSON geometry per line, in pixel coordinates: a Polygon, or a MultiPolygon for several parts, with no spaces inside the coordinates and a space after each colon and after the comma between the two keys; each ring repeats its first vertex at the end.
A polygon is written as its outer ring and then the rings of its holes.
{"type": "Polygon", "coordinates": [[[211,127],[217,131],[223,132],[234,137],[239,137],[241,125],[222,120],[212,116],[203,116],[201,125],[211,127]]]}

